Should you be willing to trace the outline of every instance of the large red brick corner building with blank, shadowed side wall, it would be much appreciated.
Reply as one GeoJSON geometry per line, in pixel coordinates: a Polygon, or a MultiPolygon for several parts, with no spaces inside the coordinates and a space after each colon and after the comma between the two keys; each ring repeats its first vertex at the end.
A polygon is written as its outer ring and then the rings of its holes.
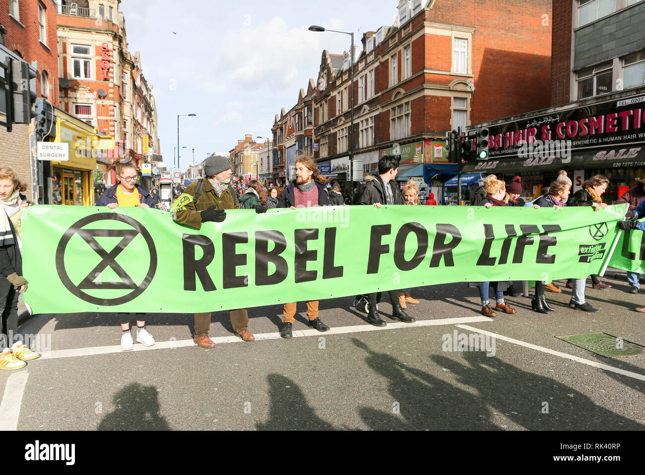
{"type": "Polygon", "coordinates": [[[324,51],[313,114],[321,168],[348,192],[350,87],[354,160],[372,172],[399,145],[402,180],[423,162],[442,171],[435,145],[446,131],[548,103],[550,16],[547,0],[401,0],[394,25],[362,36],[353,85],[350,52],[324,51]]]}

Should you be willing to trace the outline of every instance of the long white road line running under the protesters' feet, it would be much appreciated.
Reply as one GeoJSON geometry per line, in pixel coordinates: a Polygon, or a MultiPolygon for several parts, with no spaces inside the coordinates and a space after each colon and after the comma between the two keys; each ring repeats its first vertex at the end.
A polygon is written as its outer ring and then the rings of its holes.
{"type": "MultiPolygon", "coordinates": [[[[459,323],[475,323],[475,322],[489,322],[492,319],[488,317],[457,317],[453,319],[437,319],[437,320],[421,320],[414,323],[393,322],[388,323],[388,326],[377,327],[373,325],[354,325],[354,326],[341,326],[332,328],[328,332],[319,332],[313,328],[306,330],[293,330],[293,337],[312,337],[312,336],[325,336],[337,335],[340,333],[358,333],[358,332],[379,332],[381,330],[398,330],[399,328],[415,328],[419,326],[436,326],[436,325],[454,325],[459,323]]],[[[240,337],[212,337],[213,342],[216,344],[221,343],[242,343],[240,337]]],[[[262,340],[279,340],[281,339],[279,332],[273,333],[257,333],[255,335],[256,341],[262,340]]],[[[248,343],[248,342],[244,342],[248,343]]],[[[181,348],[183,346],[197,346],[192,340],[175,340],[175,341],[157,341],[153,346],[143,346],[143,344],[135,343],[132,352],[142,352],[146,350],[164,350],[168,348],[181,348]]],[[[71,348],[69,350],[52,350],[51,352],[43,352],[39,360],[52,359],[52,358],[68,358],[76,356],[90,356],[101,355],[110,353],[130,353],[121,350],[121,345],[114,346],[93,346],[90,348],[71,348]]]]}

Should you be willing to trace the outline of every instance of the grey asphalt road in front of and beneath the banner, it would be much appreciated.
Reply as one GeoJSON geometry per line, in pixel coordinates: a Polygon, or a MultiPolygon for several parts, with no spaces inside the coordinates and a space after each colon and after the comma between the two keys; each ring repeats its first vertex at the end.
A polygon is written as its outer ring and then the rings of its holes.
{"type": "MultiPolygon", "coordinates": [[[[291,340],[275,335],[281,306],[249,310],[250,330],[264,338],[250,343],[230,338],[228,312],[217,312],[210,335],[231,341],[212,349],[184,346],[187,314],[149,315],[157,344],[132,352],[106,348],[120,341],[114,315],[36,315],[21,331],[53,352],[0,374],[2,405],[15,405],[16,375],[26,373],[18,430],[642,430],[645,355],[605,358],[554,337],[606,332],[645,345],[645,314],[633,311],[645,291],[604,281],[613,288],[588,282],[597,313],[568,308],[565,289],[547,293],[555,312],[533,313],[530,299],[510,297],[517,313],[495,319],[479,315],[477,289],[466,284],[417,288],[421,303],[408,313],[424,325],[393,324],[382,304],[384,329],[366,326],[352,297],[333,299],[321,302],[321,319],[343,333],[291,340]],[[455,330],[499,335],[494,355],[450,351],[455,330]]],[[[304,303],[298,310],[293,328],[306,330],[304,303]]]]}

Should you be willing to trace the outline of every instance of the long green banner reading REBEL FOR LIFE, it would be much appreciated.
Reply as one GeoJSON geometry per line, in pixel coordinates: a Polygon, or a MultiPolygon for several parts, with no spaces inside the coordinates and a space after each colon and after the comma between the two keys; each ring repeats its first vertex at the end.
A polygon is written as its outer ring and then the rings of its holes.
{"type": "Polygon", "coordinates": [[[227,211],[200,230],[138,207],[23,211],[34,313],[229,310],[378,290],[601,273],[626,205],[227,211]]]}

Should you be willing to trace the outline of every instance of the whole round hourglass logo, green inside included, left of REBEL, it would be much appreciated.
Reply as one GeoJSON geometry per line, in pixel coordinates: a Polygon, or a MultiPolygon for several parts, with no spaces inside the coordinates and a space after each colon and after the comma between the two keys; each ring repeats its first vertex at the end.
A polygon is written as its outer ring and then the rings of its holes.
{"type": "Polygon", "coordinates": [[[119,305],[134,300],[148,288],[157,270],[157,250],[152,236],[137,220],[117,213],[98,213],[78,220],[65,231],[56,249],[56,269],[63,285],[79,299],[102,306],[119,305]],[[105,222],[103,227],[85,227],[101,221],[105,222]],[[127,226],[115,226],[115,221],[127,226]],[[114,247],[108,247],[108,243],[116,242],[114,238],[121,239],[114,247]],[[147,249],[144,248],[142,252],[143,246],[134,245],[128,249],[128,245],[135,239],[140,241],[142,238],[147,249]],[[70,241],[74,244],[68,249],[70,241]],[[82,247],[83,242],[88,248],[82,247]],[[112,249],[107,251],[104,246],[112,249]],[[144,255],[146,250],[150,256],[147,271],[141,269],[141,264],[148,261],[148,257],[144,255]],[[124,257],[117,262],[122,254],[124,257]],[[91,268],[97,256],[100,261],[91,268]],[[83,264],[87,264],[87,268],[83,268],[83,264]],[[107,275],[111,275],[113,281],[103,282],[103,273],[108,268],[110,271],[107,275]],[[73,275],[72,278],[70,274],[73,275]],[[131,277],[131,274],[135,274],[135,277],[131,277]],[[78,283],[74,284],[72,280],[78,283]],[[114,297],[114,290],[126,292],[114,297]]]}

